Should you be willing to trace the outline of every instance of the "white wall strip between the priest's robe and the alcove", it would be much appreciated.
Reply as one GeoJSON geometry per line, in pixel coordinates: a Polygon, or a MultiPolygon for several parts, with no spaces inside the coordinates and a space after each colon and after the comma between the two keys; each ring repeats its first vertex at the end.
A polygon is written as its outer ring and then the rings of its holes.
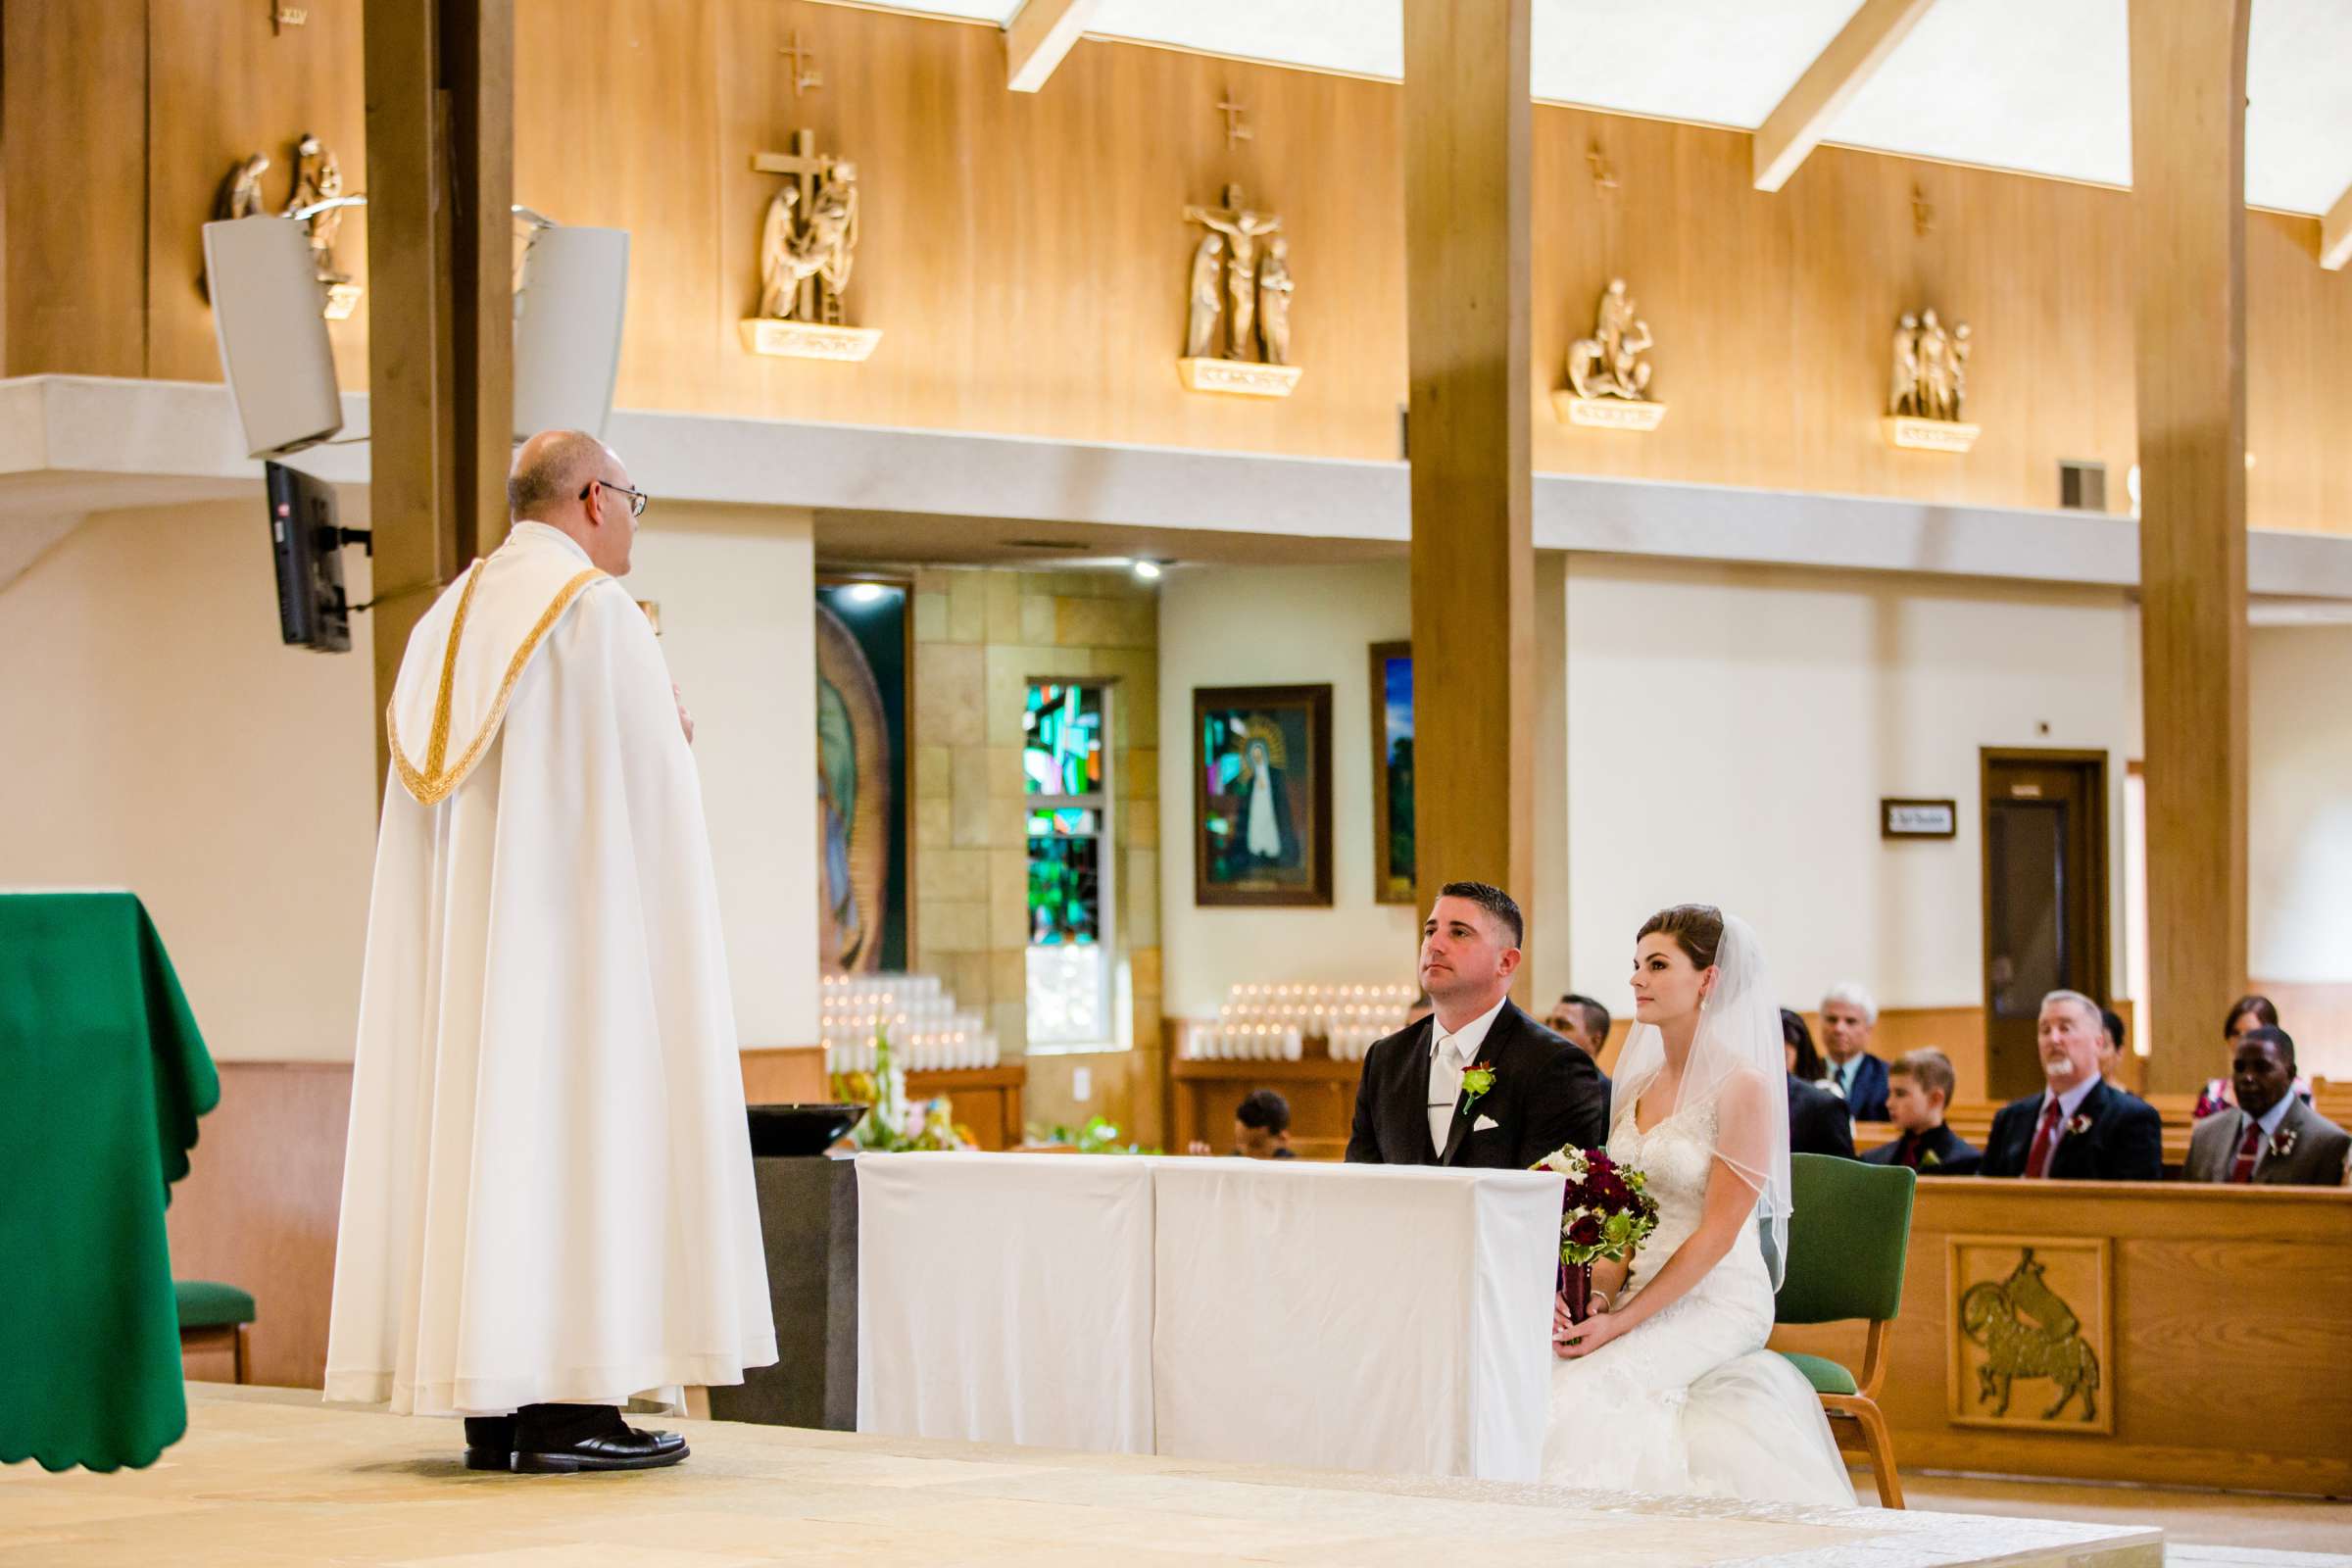
{"type": "Polygon", "coordinates": [[[694,715],[746,1048],[816,1044],[816,564],[802,510],[661,505],[628,590],[694,715]]]}

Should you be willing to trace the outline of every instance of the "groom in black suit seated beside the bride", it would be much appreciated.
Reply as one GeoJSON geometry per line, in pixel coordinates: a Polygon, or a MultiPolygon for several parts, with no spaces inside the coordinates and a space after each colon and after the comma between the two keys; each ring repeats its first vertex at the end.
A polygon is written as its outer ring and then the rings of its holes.
{"type": "Polygon", "coordinates": [[[1510,1001],[1526,922],[1510,893],[1449,882],[1421,929],[1437,1011],[1381,1039],[1355,1086],[1348,1159],[1524,1171],[1609,1140],[1609,1079],[1510,1001]]]}

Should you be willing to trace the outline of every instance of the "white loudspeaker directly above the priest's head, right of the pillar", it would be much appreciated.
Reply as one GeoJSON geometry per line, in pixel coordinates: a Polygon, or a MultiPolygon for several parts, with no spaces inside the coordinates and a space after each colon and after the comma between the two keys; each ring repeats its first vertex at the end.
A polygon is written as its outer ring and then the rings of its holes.
{"type": "Polygon", "coordinates": [[[541,228],[515,289],[515,440],[536,430],[604,435],[621,374],[628,230],[541,228]]]}

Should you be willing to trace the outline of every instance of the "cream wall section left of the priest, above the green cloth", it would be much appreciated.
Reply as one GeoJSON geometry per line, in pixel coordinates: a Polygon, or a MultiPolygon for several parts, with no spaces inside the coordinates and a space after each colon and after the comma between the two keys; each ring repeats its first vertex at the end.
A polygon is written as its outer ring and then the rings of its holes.
{"type": "Polygon", "coordinates": [[[136,891],[223,1060],[350,1056],[376,830],[367,616],[353,639],[278,639],[259,487],[99,512],[0,590],[0,886],[136,891]]]}

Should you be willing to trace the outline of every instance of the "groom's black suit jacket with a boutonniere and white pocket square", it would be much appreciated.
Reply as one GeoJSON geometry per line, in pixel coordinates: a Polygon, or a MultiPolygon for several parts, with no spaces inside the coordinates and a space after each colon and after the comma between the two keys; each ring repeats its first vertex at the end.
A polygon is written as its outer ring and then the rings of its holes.
{"type": "Polygon", "coordinates": [[[1609,1143],[1609,1079],[1592,1058],[1505,1001],[1486,1030],[1477,1065],[1494,1088],[1475,1105],[1454,1100],[1446,1147],[1430,1145],[1430,1037],[1435,1020],[1406,1025],[1364,1053],[1355,1084],[1348,1159],[1376,1166],[1470,1166],[1524,1171],[1559,1145],[1609,1143]],[[1479,1119],[1496,1126],[1475,1131],[1479,1119]]]}

